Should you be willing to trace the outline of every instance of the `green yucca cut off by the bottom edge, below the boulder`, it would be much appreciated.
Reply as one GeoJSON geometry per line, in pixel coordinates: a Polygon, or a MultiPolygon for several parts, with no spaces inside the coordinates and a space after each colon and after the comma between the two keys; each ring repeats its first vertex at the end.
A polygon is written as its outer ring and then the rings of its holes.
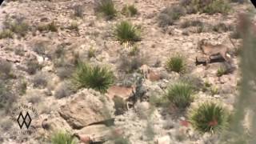
{"type": "Polygon", "coordinates": [[[69,133],[64,131],[56,132],[51,138],[52,144],[77,144],[77,140],[69,133]]]}

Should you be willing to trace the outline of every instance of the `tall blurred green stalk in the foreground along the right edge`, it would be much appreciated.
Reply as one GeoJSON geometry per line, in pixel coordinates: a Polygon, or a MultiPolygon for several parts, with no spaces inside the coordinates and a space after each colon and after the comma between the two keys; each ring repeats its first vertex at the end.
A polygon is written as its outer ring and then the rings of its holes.
{"type": "Polygon", "coordinates": [[[249,14],[239,15],[238,30],[242,36],[242,54],[239,64],[242,81],[228,133],[232,135],[231,139],[238,139],[231,143],[253,144],[256,142],[256,114],[249,115],[251,118],[250,127],[244,126],[248,110],[256,112],[256,26],[252,24],[249,14]]]}

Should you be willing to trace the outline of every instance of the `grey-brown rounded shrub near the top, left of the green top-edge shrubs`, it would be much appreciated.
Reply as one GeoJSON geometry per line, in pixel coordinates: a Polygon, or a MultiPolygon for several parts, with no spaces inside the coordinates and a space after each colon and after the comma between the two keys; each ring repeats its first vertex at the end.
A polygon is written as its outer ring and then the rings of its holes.
{"type": "Polygon", "coordinates": [[[185,14],[185,10],[181,6],[169,6],[158,16],[159,26],[171,26],[177,21],[180,17],[185,14]]]}

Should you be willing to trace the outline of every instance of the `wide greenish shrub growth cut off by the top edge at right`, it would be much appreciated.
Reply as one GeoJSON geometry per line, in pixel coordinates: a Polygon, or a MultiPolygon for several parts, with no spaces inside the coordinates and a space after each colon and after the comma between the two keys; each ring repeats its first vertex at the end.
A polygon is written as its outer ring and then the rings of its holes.
{"type": "Polygon", "coordinates": [[[227,14],[230,11],[230,4],[225,0],[182,0],[180,3],[187,13],[227,14]]]}

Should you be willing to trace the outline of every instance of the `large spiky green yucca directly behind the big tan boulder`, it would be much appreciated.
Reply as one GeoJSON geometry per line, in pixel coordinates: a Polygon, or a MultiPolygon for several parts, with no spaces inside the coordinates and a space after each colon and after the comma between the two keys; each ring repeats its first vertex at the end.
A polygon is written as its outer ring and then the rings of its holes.
{"type": "Polygon", "coordinates": [[[105,93],[114,83],[114,73],[106,67],[90,66],[79,62],[74,72],[74,82],[78,88],[92,88],[105,93]]]}

